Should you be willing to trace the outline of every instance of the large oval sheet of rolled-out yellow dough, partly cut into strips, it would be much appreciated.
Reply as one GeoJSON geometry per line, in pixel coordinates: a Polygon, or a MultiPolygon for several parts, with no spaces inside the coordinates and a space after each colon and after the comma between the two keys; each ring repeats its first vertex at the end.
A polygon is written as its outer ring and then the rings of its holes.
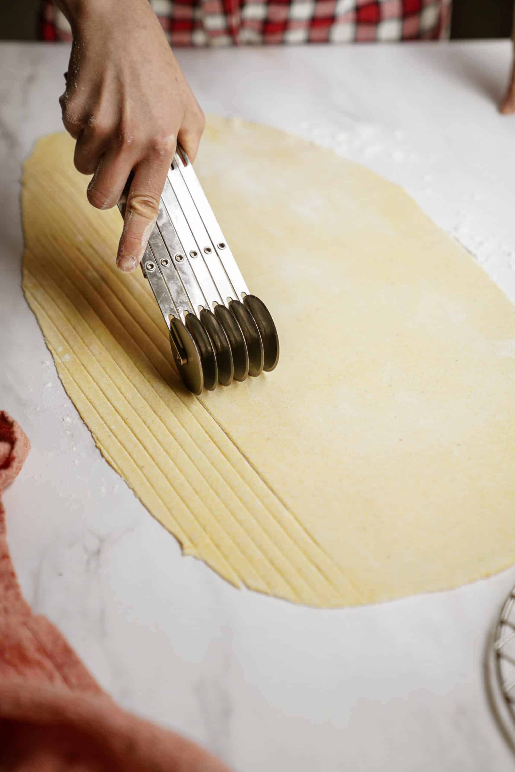
{"type": "Polygon", "coordinates": [[[185,554],[315,606],[515,562],[515,311],[405,192],[213,117],[196,168],[281,357],[195,398],[72,157],[54,134],[25,164],[25,294],[100,451],[185,554]]]}

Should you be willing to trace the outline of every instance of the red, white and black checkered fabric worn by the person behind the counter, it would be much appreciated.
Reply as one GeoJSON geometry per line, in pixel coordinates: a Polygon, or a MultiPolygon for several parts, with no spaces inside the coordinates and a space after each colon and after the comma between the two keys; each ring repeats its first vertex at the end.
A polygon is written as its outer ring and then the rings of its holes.
{"type": "MultiPolygon", "coordinates": [[[[171,46],[438,40],[452,0],[150,0],[171,46]]],[[[44,0],[44,40],[69,40],[63,14],[44,0]]]]}

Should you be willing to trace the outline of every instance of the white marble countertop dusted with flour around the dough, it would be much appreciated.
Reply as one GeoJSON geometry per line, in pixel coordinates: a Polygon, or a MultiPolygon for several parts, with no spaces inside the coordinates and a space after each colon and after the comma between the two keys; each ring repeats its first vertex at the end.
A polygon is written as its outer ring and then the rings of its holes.
{"type": "MultiPolygon", "coordinates": [[[[508,42],[179,59],[206,112],[330,144],[404,186],[515,300],[515,119],[495,110],[508,42]]],[[[5,494],[26,598],[123,706],[239,772],[512,770],[483,652],[515,568],[380,606],[296,607],[181,557],[101,458],[20,289],[20,164],[60,128],[66,66],[66,47],[0,46],[0,408],[32,442],[5,494]]]]}

